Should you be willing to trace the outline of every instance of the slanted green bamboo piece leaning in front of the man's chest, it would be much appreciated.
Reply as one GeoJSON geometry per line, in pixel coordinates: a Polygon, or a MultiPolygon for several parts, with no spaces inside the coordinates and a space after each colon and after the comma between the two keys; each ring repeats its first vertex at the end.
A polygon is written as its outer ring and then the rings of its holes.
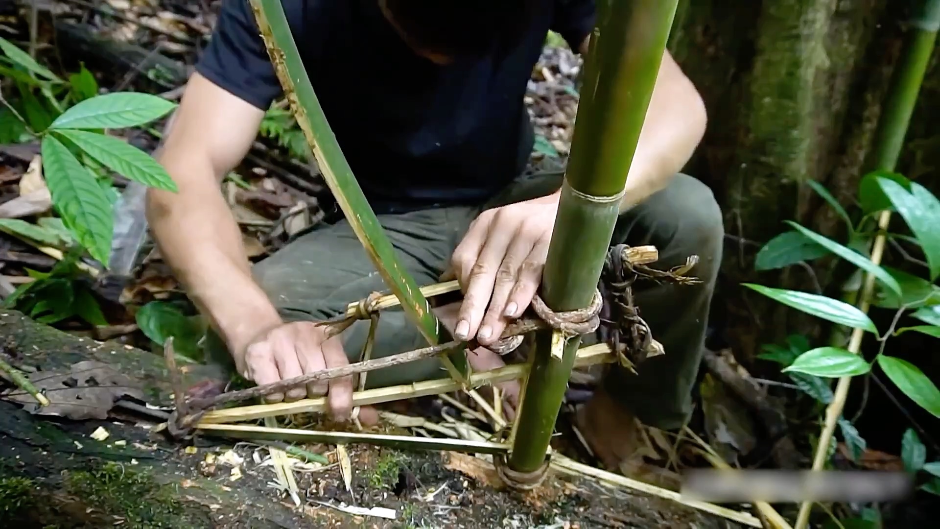
{"type": "MultiPolygon", "coordinates": [[[[340,150],[337,137],[326,121],[317,94],[310,84],[281,0],[250,1],[274,71],[284,88],[297,124],[304,131],[306,141],[320,165],[323,179],[333,191],[352,231],[362,242],[385,284],[399,298],[401,308],[415,322],[428,343],[437,344],[440,323],[431,313],[431,305],[421,294],[415,280],[401,266],[395,248],[392,248],[362,188],[352,175],[352,168],[340,150]]],[[[442,361],[451,377],[465,382],[470,368],[463,348],[453,350],[448,358],[449,361],[447,358],[442,358],[442,361]]]]}

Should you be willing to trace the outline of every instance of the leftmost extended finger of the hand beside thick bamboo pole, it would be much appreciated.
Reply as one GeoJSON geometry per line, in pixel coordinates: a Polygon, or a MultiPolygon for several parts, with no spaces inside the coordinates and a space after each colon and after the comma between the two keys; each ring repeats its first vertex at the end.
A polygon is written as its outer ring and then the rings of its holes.
{"type": "Polygon", "coordinates": [[[470,269],[466,282],[462,283],[466,284],[466,291],[463,294],[457,327],[454,329],[458,339],[468,340],[477,335],[479,323],[490,304],[490,297],[493,296],[496,272],[503,263],[513,234],[500,230],[491,231],[486,244],[479,252],[477,262],[470,269]]]}

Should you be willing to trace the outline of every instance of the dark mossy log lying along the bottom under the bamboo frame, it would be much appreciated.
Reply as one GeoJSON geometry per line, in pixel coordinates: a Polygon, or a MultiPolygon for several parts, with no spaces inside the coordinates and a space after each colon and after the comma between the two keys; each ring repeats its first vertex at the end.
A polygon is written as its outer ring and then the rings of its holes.
{"type": "MultiPolygon", "coordinates": [[[[59,371],[77,361],[104,361],[139,382],[152,404],[169,402],[163,361],[152,353],[77,338],[13,311],[0,312],[0,336],[5,360],[15,366],[59,371]]],[[[274,471],[254,463],[255,448],[235,447],[245,463],[242,477],[232,480],[229,467],[206,464],[207,455],[218,456],[231,444],[195,442],[186,450],[123,409],[112,410],[108,421],[71,422],[30,415],[0,401],[0,526],[492,528],[559,521],[580,527],[737,526],[585,479],[550,477],[535,491],[509,492],[498,488],[492,467],[475,457],[366,445],[349,447],[352,495],[336,467],[298,473],[304,500],[297,507],[268,486],[274,471]],[[99,427],[110,434],[103,441],[91,437],[99,427]],[[396,509],[398,519],[352,516],[321,502],[384,506],[396,509]]]]}

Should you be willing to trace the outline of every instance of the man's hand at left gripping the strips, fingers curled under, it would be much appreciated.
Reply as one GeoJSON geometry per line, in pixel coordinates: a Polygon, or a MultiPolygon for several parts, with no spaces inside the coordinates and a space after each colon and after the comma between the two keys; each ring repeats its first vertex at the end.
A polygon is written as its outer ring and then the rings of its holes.
{"type": "MultiPolygon", "coordinates": [[[[349,361],[339,336],[325,338],[325,327],[312,322],[282,324],[262,333],[248,345],[237,348],[235,362],[243,377],[258,385],[300,377],[323,369],[346,365],[349,361]]],[[[306,388],[293,388],[287,395],[274,393],[269,402],[298,400],[305,396],[328,394],[333,417],[345,420],[352,410],[352,377],[312,382],[306,388]]]]}

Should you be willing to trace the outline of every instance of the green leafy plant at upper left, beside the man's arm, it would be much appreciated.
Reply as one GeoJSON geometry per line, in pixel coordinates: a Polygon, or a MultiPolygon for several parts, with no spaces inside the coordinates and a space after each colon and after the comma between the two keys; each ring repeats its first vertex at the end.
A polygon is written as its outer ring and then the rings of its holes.
{"type": "MultiPolygon", "coordinates": [[[[63,80],[8,40],[0,39],[0,51],[0,74],[18,95],[0,99],[0,140],[41,142],[43,175],[55,210],[72,241],[107,266],[116,199],[109,171],[151,187],[177,187],[149,154],[105,131],[158,120],[176,104],[144,93],[97,95],[98,84],[84,66],[63,80]]],[[[28,223],[5,222],[0,229],[49,242],[28,223]]]]}

